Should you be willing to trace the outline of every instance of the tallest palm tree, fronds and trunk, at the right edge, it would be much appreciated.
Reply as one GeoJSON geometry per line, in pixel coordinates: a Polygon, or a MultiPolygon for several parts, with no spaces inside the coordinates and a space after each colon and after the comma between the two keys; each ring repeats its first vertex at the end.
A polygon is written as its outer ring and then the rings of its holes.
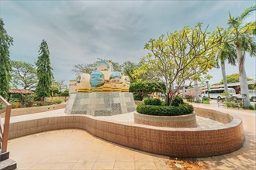
{"type": "Polygon", "coordinates": [[[247,8],[236,18],[230,15],[228,21],[228,35],[229,38],[232,39],[237,51],[240,89],[241,94],[244,97],[244,106],[251,105],[248,95],[247,76],[244,68],[245,53],[249,53],[250,56],[256,56],[256,42],[254,39],[254,35],[256,35],[256,21],[245,22],[245,19],[254,11],[256,11],[256,5],[247,8]]]}

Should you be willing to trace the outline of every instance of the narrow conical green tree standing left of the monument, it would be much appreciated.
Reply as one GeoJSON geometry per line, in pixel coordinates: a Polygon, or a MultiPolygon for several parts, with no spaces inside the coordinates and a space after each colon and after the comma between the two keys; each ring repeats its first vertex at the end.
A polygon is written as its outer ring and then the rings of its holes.
{"type": "Polygon", "coordinates": [[[44,39],[40,45],[39,55],[36,62],[38,76],[36,95],[42,100],[44,97],[50,97],[50,88],[54,78],[50,65],[50,52],[44,39]]]}

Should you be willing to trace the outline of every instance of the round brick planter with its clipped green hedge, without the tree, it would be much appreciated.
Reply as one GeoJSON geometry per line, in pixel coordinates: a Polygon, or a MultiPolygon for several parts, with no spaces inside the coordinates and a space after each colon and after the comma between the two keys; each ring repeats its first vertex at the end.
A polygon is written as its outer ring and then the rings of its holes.
{"type": "Polygon", "coordinates": [[[169,128],[196,128],[192,105],[185,104],[178,97],[173,100],[172,106],[164,106],[157,99],[145,100],[144,104],[137,105],[134,122],[169,128]]]}

